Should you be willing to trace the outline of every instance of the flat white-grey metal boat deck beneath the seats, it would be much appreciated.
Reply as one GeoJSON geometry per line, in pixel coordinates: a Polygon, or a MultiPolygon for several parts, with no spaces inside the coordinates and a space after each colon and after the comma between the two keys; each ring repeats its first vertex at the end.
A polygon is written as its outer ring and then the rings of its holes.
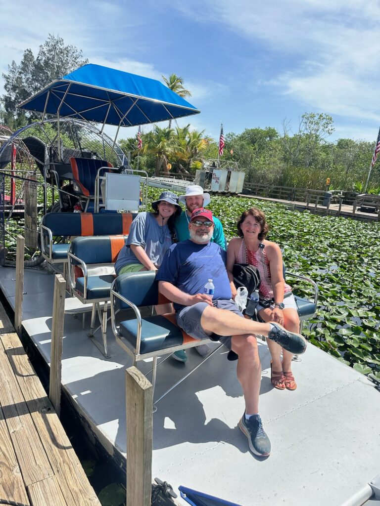
{"type": "MultiPolygon", "coordinates": [[[[15,270],[0,267],[0,287],[14,307],[15,270]]],[[[54,276],[25,270],[23,325],[50,360],[54,276]]],[[[62,383],[79,412],[112,453],[125,452],[125,369],[131,360],[108,326],[111,357],[87,337],[82,317],[65,316],[62,383]]],[[[270,355],[259,341],[262,362],[260,415],[271,443],[256,458],[237,428],[244,410],[236,362],[217,352],[158,404],[154,414],[153,476],[242,506],[362,504],[363,488],[380,472],[380,392],[365,376],[308,346],[294,363],[294,392],[273,389],[270,355]],[[360,500],[362,497],[362,500],[360,500]]],[[[200,360],[168,359],[158,373],[156,397],[200,360]]],[[[149,363],[139,368],[144,372],[149,363]]],[[[181,501],[181,499],[178,499],[181,501]]]]}

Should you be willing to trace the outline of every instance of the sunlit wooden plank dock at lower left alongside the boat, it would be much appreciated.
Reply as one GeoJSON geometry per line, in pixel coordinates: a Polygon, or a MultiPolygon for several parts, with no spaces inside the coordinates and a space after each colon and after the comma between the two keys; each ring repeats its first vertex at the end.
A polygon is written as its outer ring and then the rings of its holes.
{"type": "Polygon", "coordinates": [[[30,506],[100,506],[0,304],[0,498],[30,506]]]}

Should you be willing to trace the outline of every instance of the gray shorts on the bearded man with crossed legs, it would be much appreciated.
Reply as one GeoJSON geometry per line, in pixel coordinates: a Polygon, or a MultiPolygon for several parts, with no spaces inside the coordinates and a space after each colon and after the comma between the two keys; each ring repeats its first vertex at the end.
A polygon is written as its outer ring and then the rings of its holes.
{"type": "MultiPolygon", "coordinates": [[[[230,301],[213,301],[213,305],[218,309],[232,311],[244,318],[242,313],[239,311],[238,306],[232,299],[230,301]]],[[[194,306],[185,306],[176,313],[177,325],[194,339],[211,339],[212,341],[220,341],[220,343],[223,343],[223,345],[231,350],[231,335],[218,335],[214,333],[208,335],[201,327],[202,313],[207,306],[208,304],[206,302],[198,302],[197,304],[194,304],[194,306]]]]}

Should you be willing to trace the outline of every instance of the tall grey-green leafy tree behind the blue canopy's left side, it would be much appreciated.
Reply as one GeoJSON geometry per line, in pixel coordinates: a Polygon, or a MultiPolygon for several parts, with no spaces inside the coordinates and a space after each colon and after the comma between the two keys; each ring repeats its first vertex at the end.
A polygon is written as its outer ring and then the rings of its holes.
{"type": "Polygon", "coordinates": [[[31,49],[24,51],[20,64],[15,61],[8,66],[8,73],[3,74],[5,94],[0,102],[4,106],[4,118],[10,126],[19,126],[26,118],[33,120],[37,113],[17,109],[17,105],[48,85],[49,82],[63,77],[72,70],[88,63],[82,58],[82,51],[75,46],[65,46],[63,38],[49,34],[34,58],[31,49]]]}

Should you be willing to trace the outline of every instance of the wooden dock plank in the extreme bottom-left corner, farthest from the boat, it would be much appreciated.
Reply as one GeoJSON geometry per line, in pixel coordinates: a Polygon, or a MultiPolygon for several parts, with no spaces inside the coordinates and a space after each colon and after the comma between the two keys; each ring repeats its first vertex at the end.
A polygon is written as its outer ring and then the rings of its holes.
{"type": "Polygon", "coordinates": [[[0,497],[27,504],[29,499],[1,408],[0,442],[0,497]]]}

